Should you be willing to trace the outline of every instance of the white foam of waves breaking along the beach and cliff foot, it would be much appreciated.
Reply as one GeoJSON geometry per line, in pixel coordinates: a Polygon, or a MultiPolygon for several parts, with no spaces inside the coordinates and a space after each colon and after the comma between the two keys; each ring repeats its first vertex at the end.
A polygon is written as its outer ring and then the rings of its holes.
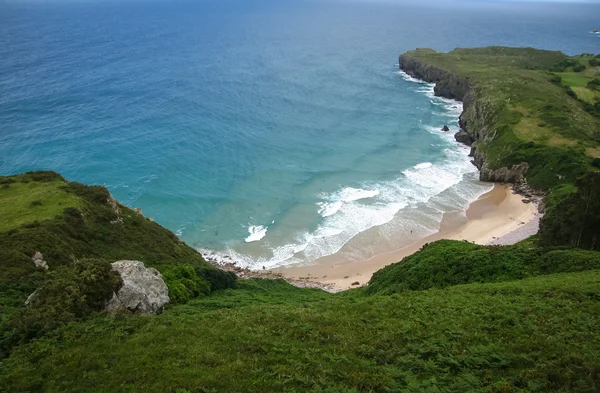
{"type": "MultiPolygon", "coordinates": [[[[414,231],[415,236],[427,236],[439,229],[444,212],[459,212],[483,193],[490,185],[476,181],[477,168],[470,163],[469,148],[454,140],[458,131],[457,119],[463,110],[462,103],[434,94],[434,84],[426,83],[399,72],[407,81],[418,84],[417,91],[429,97],[439,110],[435,116],[455,119],[448,122],[450,132],[441,132],[439,126],[423,126],[424,131],[440,138],[445,146],[442,159],[422,162],[402,171],[393,181],[365,184],[360,188],[342,187],[333,193],[319,195],[317,212],[322,221],[312,231],[300,232],[288,244],[270,248],[270,255],[250,256],[228,249],[212,252],[209,257],[230,261],[250,268],[274,268],[279,266],[310,263],[311,261],[334,254],[354,238],[373,227],[399,225],[396,231],[414,231]],[[426,205],[420,205],[420,204],[426,205]],[[417,210],[419,222],[403,218],[405,213],[416,206],[426,206],[417,210]],[[404,228],[404,229],[402,229],[404,228]]],[[[392,231],[393,232],[393,231],[392,231]]],[[[265,237],[267,227],[251,226],[246,242],[255,242],[265,237]]]]}

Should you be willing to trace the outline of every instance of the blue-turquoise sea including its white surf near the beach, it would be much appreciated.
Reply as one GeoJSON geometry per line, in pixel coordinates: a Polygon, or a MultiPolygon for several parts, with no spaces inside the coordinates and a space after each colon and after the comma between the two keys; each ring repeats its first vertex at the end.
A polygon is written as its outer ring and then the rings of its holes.
{"type": "Polygon", "coordinates": [[[249,266],[360,260],[490,189],[398,55],[600,53],[600,4],[0,1],[0,175],[102,184],[249,266]],[[361,234],[369,233],[369,241],[361,234]],[[349,246],[354,244],[354,247],[349,246]]]}

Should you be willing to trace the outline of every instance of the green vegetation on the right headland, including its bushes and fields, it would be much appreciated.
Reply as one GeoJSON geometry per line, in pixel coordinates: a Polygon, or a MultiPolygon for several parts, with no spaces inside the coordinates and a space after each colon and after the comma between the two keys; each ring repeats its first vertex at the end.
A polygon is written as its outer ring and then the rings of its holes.
{"type": "Polygon", "coordinates": [[[468,82],[477,151],[491,169],[527,163],[527,183],[546,194],[541,245],[600,248],[597,56],[488,47],[403,57],[468,82]]]}

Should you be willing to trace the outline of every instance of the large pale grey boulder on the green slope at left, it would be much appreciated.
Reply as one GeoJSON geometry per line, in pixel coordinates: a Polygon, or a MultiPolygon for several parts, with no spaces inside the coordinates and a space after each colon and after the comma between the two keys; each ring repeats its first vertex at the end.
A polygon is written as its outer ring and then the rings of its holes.
{"type": "Polygon", "coordinates": [[[112,268],[121,276],[123,286],[108,302],[109,312],[159,314],[169,303],[169,289],[158,270],[146,268],[140,261],[118,261],[112,268]]]}

